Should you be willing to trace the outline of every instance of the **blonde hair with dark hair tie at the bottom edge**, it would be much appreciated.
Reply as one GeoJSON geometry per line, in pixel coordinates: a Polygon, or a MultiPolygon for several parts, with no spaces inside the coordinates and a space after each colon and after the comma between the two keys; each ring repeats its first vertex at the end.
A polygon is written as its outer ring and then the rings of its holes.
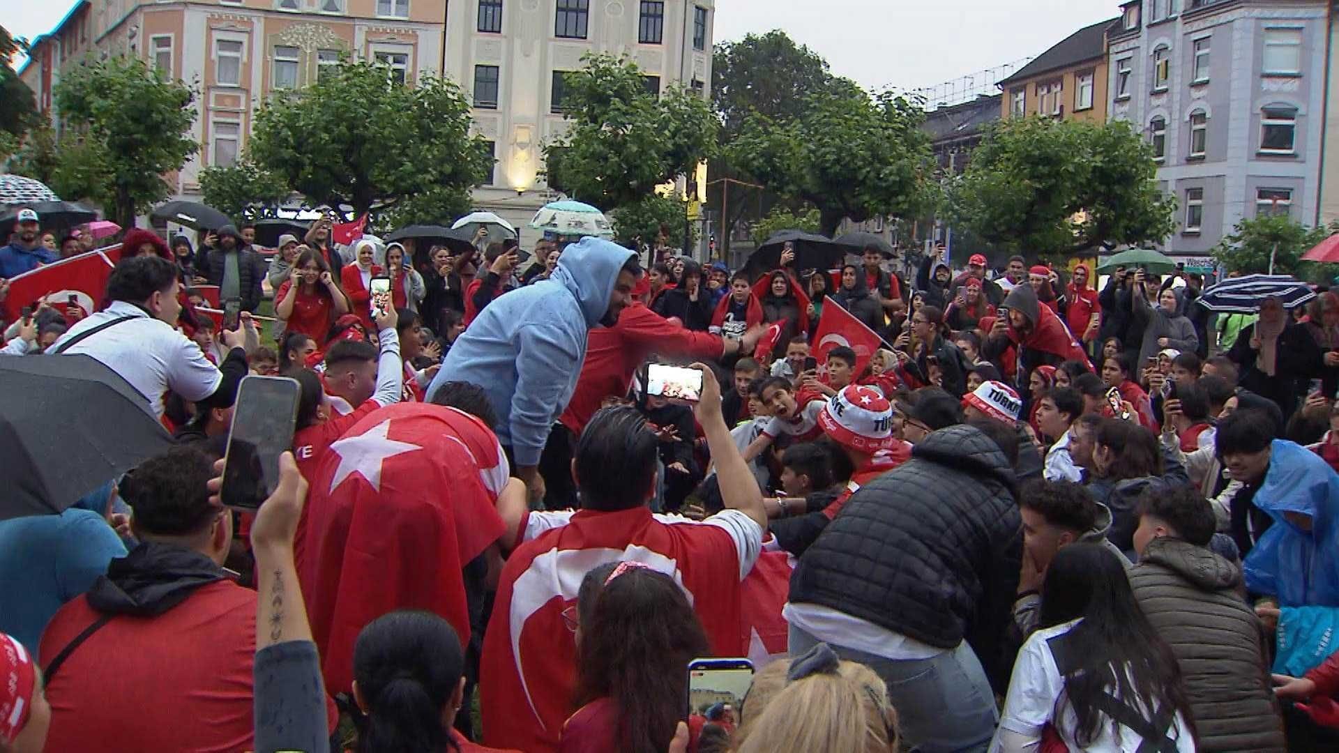
{"type": "Polygon", "coordinates": [[[884,681],[873,670],[857,662],[841,662],[837,673],[814,673],[786,683],[786,665],[774,662],[754,678],[740,709],[744,724],[731,750],[897,750],[897,711],[888,701],[884,681]]]}

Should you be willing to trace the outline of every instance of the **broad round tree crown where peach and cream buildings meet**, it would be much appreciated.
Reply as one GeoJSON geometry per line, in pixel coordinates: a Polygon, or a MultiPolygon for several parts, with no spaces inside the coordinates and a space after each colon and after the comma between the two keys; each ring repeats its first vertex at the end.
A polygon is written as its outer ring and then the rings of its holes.
{"type": "Polygon", "coordinates": [[[386,66],[347,60],[307,88],[276,92],[256,113],[249,149],[257,167],[313,204],[355,214],[416,205],[435,221],[469,205],[491,159],[470,137],[458,86],[435,76],[402,84],[386,66]]]}

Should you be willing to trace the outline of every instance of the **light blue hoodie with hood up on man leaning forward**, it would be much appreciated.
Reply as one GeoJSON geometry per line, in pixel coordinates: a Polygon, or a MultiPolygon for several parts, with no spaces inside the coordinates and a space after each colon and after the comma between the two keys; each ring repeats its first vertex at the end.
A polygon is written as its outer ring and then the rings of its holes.
{"type": "Polygon", "coordinates": [[[582,238],[558,257],[553,276],[493,300],[455,340],[427,389],[445,382],[483,387],[498,417],[497,435],[517,465],[540,453],[581,374],[586,334],[609,310],[619,269],[632,259],[621,245],[582,238]]]}

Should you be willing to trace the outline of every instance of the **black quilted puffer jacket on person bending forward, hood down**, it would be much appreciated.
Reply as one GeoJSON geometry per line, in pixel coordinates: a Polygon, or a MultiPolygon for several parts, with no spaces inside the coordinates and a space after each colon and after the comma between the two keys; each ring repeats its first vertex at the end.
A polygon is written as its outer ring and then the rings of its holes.
{"type": "Polygon", "coordinates": [[[1023,561],[1008,458],[971,426],[932,433],[912,458],[860,488],[790,579],[823,606],[931,646],[967,640],[996,687],[1023,561]]]}

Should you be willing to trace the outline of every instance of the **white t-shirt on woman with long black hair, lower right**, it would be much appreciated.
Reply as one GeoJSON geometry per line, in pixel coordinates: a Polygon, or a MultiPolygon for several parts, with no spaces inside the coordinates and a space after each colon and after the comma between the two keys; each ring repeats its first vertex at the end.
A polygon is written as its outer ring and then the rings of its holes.
{"type": "MultiPolygon", "coordinates": [[[[1004,711],[1000,714],[1000,726],[991,741],[991,753],[1030,752],[1036,749],[1036,741],[1042,740],[1042,729],[1047,722],[1055,724],[1055,711],[1060,706],[1060,694],[1065,693],[1065,678],[1060,677],[1055,666],[1055,657],[1051,654],[1048,639],[1065,635],[1075,624],[1077,619],[1046,630],[1038,630],[1023,643],[1014,662],[1014,675],[1008,683],[1008,697],[1004,699],[1004,711]]],[[[1070,734],[1074,730],[1074,710],[1065,705],[1065,718],[1055,724],[1056,732],[1070,750],[1079,750],[1079,745],[1070,734]]],[[[1101,736],[1093,745],[1082,748],[1090,753],[1135,753],[1142,740],[1130,728],[1119,725],[1119,738],[1113,730],[1113,722],[1103,720],[1101,736]]],[[[1180,753],[1194,753],[1194,740],[1186,730],[1185,720],[1178,713],[1173,729],[1168,730],[1168,737],[1176,740],[1180,753]]]]}

